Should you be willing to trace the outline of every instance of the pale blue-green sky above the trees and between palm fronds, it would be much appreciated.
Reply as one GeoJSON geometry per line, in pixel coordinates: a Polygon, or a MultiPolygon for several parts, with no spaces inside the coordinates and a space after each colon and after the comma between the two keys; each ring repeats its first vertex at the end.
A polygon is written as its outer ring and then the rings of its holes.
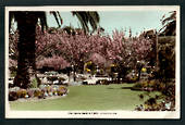
{"type": "MultiPolygon", "coordinates": [[[[159,30],[162,27],[161,18],[169,11],[98,11],[100,15],[100,26],[104,28],[104,33],[111,35],[112,30],[124,30],[125,35],[128,35],[128,29],[132,29],[132,34],[139,35],[141,32],[148,29],[159,30]]],[[[60,12],[63,26],[81,27],[81,24],[76,16],[73,16],[71,12],[60,12]]],[[[47,21],[49,27],[57,27],[57,22],[51,14],[47,14],[47,21]]]]}

